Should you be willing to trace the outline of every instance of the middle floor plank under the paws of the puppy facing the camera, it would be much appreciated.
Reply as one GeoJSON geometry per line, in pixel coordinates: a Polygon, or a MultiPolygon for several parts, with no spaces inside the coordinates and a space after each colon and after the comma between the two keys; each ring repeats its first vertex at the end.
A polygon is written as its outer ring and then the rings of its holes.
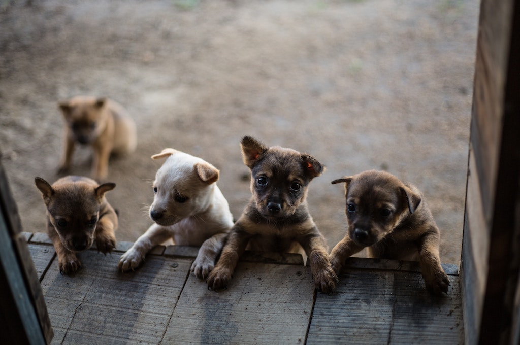
{"type": "Polygon", "coordinates": [[[239,262],[218,293],[190,275],[163,343],[304,343],[313,296],[304,266],[239,262]]]}

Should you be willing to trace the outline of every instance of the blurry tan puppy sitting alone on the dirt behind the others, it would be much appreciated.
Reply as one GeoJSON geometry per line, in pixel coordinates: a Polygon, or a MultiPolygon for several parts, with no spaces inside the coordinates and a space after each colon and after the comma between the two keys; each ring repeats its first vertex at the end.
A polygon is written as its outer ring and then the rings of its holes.
{"type": "Polygon", "coordinates": [[[94,150],[92,177],[108,174],[111,153],[127,154],[137,146],[136,126],[121,104],[107,98],[77,96],[59,103],[65,124],[63,156],[58,172],[68,172],[76,142],[94,150]]]}

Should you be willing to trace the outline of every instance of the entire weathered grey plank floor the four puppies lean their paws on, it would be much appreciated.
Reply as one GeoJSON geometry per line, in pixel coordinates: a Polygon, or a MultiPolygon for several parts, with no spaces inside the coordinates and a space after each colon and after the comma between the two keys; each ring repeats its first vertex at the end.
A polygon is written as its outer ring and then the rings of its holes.
{"type": "Polygon", "coordinates": [[[417,263],[352,258],[337,294],[316,293],[300,255],[246,253],[228,289],[189,274],[197,248],[157,247],[120,273],[111,255],[80,254],[83,269],[59,273],[47,235],[25,234],[59,344],[457,344],[463,343],[458,268],[450,289],[427,294],[417,263]]]}

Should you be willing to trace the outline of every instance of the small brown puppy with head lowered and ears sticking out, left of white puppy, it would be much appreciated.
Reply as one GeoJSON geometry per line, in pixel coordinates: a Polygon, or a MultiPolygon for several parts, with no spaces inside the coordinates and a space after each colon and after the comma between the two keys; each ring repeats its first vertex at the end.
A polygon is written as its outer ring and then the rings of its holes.
{"type": "Polygon", "coordinates": [[[34,179],[47,206],[47,233],[53,241],[60,272],[72,275],[81,268],[76,252],[87,250],[96,241],[106,254],[115,247],[118,216],[105,198],[115,183],[98,184],[87,177],[66,176],[53,185],[34,179]]]}

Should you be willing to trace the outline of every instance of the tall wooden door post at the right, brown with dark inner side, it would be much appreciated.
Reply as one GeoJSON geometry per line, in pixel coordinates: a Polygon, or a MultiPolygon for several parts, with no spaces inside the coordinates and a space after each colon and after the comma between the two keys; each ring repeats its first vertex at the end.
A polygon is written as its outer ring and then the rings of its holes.
{"type": "Polygon", "coordinates": [[[462,282],[467,343],[518,343],[520,3],[483,0],[467,181],[462,282]]]}

